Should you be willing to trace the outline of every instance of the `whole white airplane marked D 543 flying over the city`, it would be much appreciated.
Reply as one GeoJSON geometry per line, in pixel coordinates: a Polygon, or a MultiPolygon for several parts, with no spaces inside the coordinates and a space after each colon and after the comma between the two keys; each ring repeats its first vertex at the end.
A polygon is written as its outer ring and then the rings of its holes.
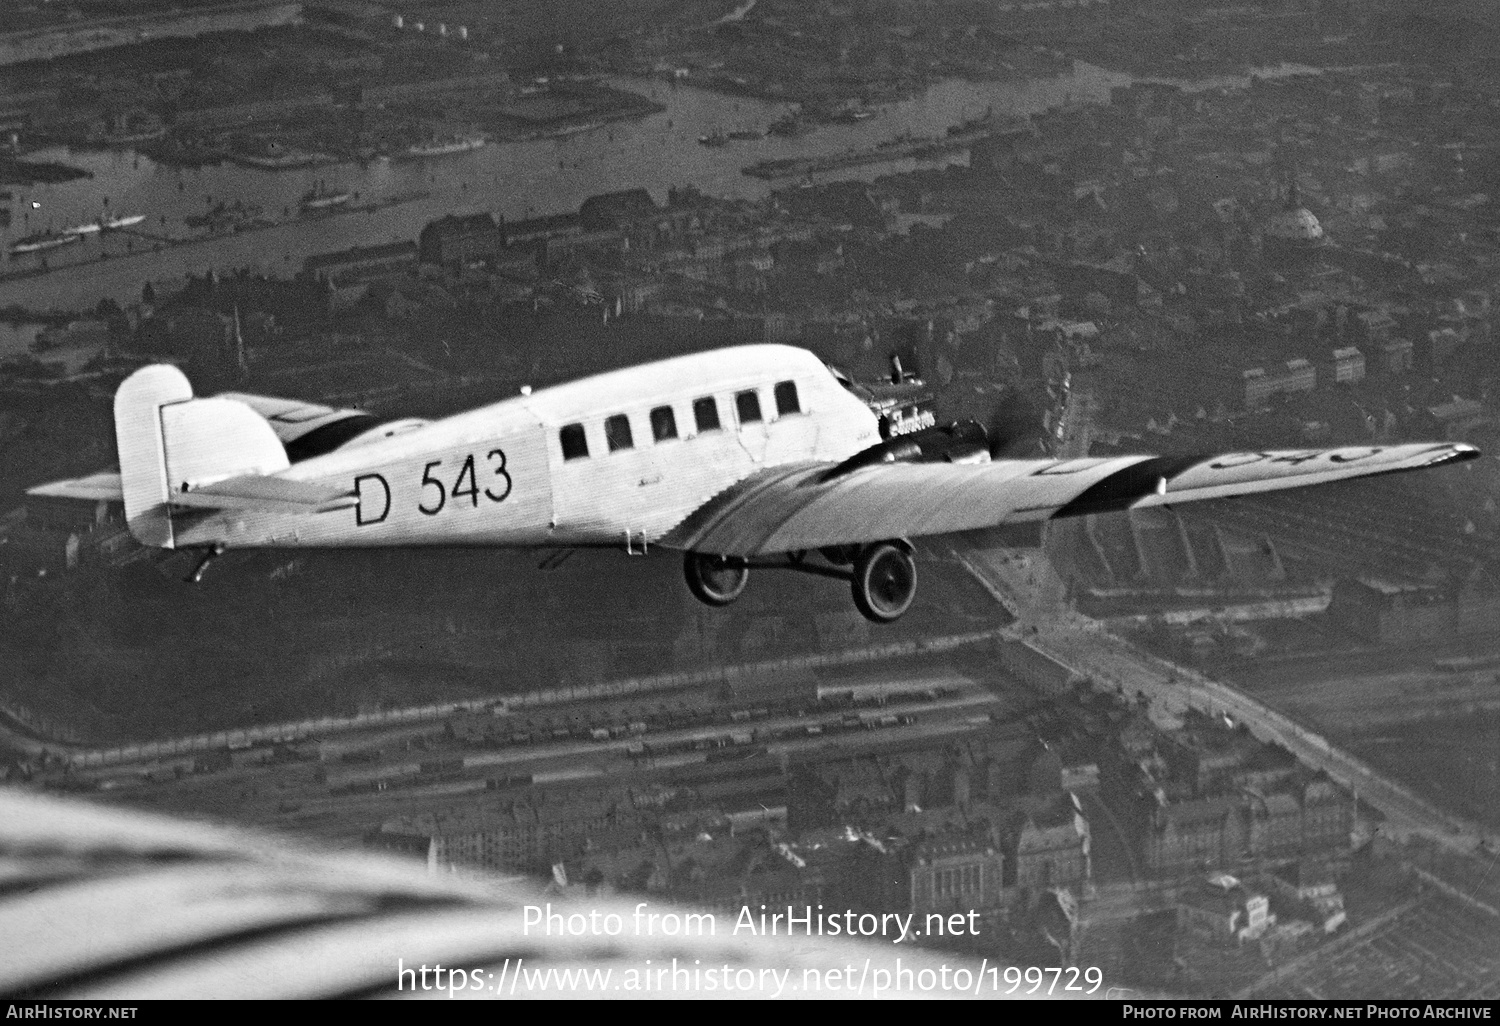
{"type": "Polygon", "coordinates": [[[146,546],[621,548],[680,552],[728,606],[750,570],[849,582],[868,620],[916,596],[912,538],[1456,464],[1462,442],[1220,456],[992,459],[972,422],[900,417],[788,345],[678,356],[522,388],[442,420],[226,393],[174,366],[114,398],[118,472],[30,495],[110,500],[146,546]]]}

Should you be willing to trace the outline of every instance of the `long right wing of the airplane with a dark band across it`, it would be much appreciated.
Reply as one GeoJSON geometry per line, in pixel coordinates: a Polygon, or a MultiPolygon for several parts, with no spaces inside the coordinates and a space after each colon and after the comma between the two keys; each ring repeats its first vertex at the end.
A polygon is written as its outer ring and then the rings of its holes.
{"type": "Polygon", "coordinates": [[[910,538],[1058,516],[1269,492],[1479,456],[1460,442],[1227,453],[874,464],[796,464],[716,495],[657,543],[756,556],[910,538]]]}

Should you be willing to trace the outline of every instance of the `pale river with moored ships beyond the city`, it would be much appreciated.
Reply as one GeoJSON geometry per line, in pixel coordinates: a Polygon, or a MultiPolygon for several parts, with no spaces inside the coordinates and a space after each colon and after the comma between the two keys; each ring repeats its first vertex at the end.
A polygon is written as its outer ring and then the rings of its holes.
{"type": "MultiPolygon", "coordinates": [[[[1262,74],[1312,69],[1281,68],[1262,74]]],[[[285,222],[273,228],[154,249],[138,234],[92,236],[46,254],[52,270],[0,282],[0,306],[27,309],[87,309],[102,297],[135,302],[147,280],[180,279],[188,273],[240,267],[294,274],[304,258],[350,246],[416,238],[422,226],[448,213],[492,212],[506,219],[576,210],[591,195],[644,186],[664,201],[674,186],[696,186],[718,196],[753,200],[774,183],[741,174],[758,160],[822,156],[850,147],[872,147],[902,134],[940,135],[944,129],[993,110],[1029,116],[1066,104],[1107,100],[1110,88],[1134,76],[1076,63],[1071,72],[1041,80],[938,82],[909,100],[886,104],[878,117],[856,124],[820,126],[789,140],[766,136],[722,147],[698,144],[700,135],[765,129],[788,106],[780,102],[726,96],[694,87],[670,87],[654,80],[610,80],[610,84],[651,96],[664,111],[615,122],[562,138],[490,144],[468,153],[424,160],[378,160],[286,171],[261,171],[231,164],[172,168],[130,152],[38,153],[92,172],[58,184],[14,189],[15,216],[0,242],[42,230],[64,230],[98,220],[104,213],[146,214],[138,231],[166,238],[194,236],[184,219],[220,201],[261,207],[262,216],[285,222]],[[356,194],[356,202],[412,196],[375,212],[298,218],[298,202],[315,183],[356,194]],[[110,260],[93,260],[100,252],[110,260]],[[84,261],[84,262],[80,262],[84,261]]],[[[1246,76],[1194,82],[1194,88],[1244,86],[1246,76]]],[[[948,162],[964,160],[963,153],[948,162]]],[[[818,176],[874,178],[916,166],[914,160],[843,168],[818,176]]],[[[784,186],[784,183],[783,183],[784,186]]],[[[40,255],[12,256],[4,272],[38,267],[40,255]]],[[[14,333],[0,339],[0,354],[14,346],[14,333]],[[9,342],[9,345],[6,345],[9,342]]]]}

